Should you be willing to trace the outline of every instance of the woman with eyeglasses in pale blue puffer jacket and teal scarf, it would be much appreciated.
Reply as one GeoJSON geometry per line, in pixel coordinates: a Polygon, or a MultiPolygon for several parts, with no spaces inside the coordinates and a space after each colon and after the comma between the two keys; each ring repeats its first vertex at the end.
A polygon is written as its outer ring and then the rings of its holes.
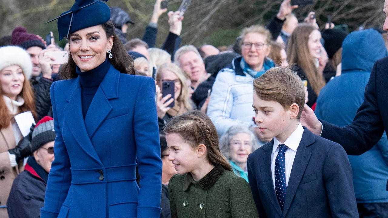
{"type": "MultiPolygon", "coordinates": [[[[207,114],[222,136],[234,125],[251,126],[254,113],[253,80],[274,67],[268,58],[271,50],[271,34],[263,26],[253,25],[241,33],[241,56],[222,69],[216,77],[211,91],[207,114]]],[[[253,127],[260,138],[258,128],[253,127]]],[[[264,140],[264,139],[262,139],[264,140]]]]}

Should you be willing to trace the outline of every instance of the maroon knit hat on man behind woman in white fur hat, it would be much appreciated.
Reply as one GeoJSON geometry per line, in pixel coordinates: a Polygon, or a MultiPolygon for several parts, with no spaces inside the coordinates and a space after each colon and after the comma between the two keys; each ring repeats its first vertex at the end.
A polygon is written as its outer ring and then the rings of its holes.
{"type": "Polygon", "coordinates": [[[43,44],[42,40],[38,38],[35,34],[28,33],[27,29],[19,26],[12,31],[11,38],[12,45],[18,45],[24,49],[28,49],[29,47],[38,46],[42,49],[46,49],[45,44],[43,44]]]}

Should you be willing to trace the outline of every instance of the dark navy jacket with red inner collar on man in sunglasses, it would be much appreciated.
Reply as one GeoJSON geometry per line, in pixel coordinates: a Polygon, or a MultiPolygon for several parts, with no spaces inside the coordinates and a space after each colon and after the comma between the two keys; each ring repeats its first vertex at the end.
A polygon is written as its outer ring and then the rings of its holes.
{"type": "Polygon", "coordinates": [[[40,208],[45,199],[48,173],[36,163],[33,157],[12,183],[7,201],[9,218],[40,217],[40,208]]]}

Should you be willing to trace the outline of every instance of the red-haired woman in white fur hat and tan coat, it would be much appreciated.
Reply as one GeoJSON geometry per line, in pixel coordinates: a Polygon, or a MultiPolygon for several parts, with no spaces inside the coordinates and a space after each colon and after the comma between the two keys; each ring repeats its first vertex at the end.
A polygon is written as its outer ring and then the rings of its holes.
{"type": "Polygon", "coordinates": [[[31,154],[28,144],[18,144],[23,135],[15,116],[31,111],[36,117],[34,93],[29,83],[32,63],[20,47],[0,48],[0,217],[7,218],[7,199],[23,159],[31,154]]]}

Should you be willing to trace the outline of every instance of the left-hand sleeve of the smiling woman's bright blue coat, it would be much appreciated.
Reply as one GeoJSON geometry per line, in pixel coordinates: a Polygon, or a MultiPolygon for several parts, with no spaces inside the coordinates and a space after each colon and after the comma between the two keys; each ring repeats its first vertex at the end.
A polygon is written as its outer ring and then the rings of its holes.
{"type": "Polygon", "coordinates": [[[54,93],[59,91],[55,90],[56,84],[57,82],[54,82],[50,88],[55,130],[55,159],[51,164],[49,180],[47,181],[45,202],[43,208],[41,209],[41,218],[56,218],[58,216],[59,210],[61,209],[62,203],[65,201],[71,185],[70,159],[66,145],[62,138],[61,128],[58,123],[57,108],[55,106],[54,93]]]}

